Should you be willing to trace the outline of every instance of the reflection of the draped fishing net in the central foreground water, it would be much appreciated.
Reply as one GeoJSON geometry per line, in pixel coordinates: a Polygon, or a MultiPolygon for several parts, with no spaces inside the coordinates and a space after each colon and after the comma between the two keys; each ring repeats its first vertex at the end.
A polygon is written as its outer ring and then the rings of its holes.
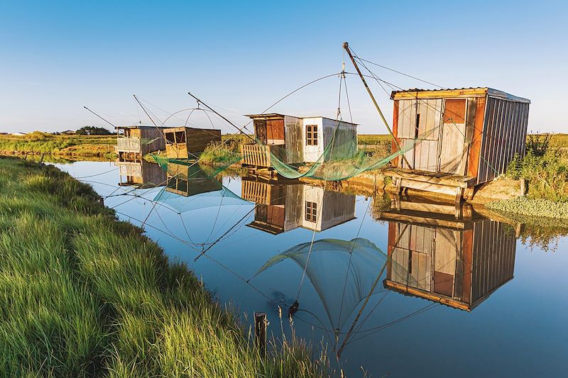
{"type": "MultiPolygon", "coordinates": [[[[256,274],[285,259],[294,260],[312,282],[325,308],[329,323],[340,330],[359,303],[385,289],[378,281],[387,255],[371,241],[322,239],[303,243],[268,260],[256,274]],[[309,263],[308,263],[309,256],[309,263]]],[[[391,262],[393,263],[393,262],[391,262]]]]}

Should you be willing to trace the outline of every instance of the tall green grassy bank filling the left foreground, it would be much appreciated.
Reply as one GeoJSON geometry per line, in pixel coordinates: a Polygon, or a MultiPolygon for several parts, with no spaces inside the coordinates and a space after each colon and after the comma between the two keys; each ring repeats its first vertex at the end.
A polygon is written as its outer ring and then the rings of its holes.
{"type": "Polygon", "coordinates": [[[86,184],[0,158],[0,199],[1,376],[318,375],[301,345],[261,360],[187,268],[86,184]]]}

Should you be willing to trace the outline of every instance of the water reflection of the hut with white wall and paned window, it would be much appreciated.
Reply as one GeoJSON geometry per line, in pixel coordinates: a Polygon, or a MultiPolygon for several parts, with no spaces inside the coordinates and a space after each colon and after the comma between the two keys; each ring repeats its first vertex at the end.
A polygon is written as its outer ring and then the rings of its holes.
{"type": "Polygon", "coordinates": [[[256,203],[247,226],[272,234],[302,227],[322,231],[355,218],[355,196],[300,182],[242,179],[242,198],[256,203]]]}

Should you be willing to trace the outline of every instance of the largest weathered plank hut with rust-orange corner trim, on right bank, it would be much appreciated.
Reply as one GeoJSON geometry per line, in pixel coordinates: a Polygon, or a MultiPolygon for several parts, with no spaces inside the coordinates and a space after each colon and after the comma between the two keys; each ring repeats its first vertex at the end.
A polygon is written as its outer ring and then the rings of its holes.
{"type": "MultiPolygon", "coordinates": [[[[491,88],[393,91],[393,134],[415,144],[395,168],[398,189],[413,188],[471,199],[474,188],[525,155],[530,100],[491,88]]],[[[393,143],[393,152],[398,147],[393,143]]]]}

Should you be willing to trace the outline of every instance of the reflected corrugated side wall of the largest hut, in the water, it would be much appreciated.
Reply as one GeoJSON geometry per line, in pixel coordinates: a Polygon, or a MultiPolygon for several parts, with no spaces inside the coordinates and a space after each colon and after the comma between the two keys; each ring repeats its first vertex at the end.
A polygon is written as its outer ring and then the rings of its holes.
{"type": "Polygon", "coordinates": [[[471,302],[483,299],[513,278],[516,238],[513,230],[491,220],[474,223],[471,302]]]}

